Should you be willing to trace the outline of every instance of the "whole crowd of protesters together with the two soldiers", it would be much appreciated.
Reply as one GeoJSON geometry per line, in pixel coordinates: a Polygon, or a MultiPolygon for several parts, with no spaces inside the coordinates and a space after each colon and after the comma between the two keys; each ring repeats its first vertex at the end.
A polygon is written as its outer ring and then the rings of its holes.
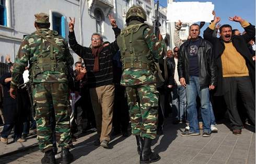
{"type": "Polygon", "coordinates": [[[150,146],[164,133],[170,113],[173,124],[184,124],[181,136],[200,135],[200,129],[203,137],[218,132],[215,116],[222,118],[218,112],[225,107],[233,134],[240,135],[247,120],[255,126],[255,26],[230,17],[245,29],[241,34],[230,25],[220,26],[213,14],[203,38],[204,22],[190,26],[187,40],[179,38],[182,22],[177,22],[173,50],[144,24],[147,17],[139,6],[127,11],[123,30],[109,15],[115,41],[103,42],[93,33],[88,48],[77,43],[75,18],[70,18],[68,43],[81,58],[74,71],[67,43],[49,30],[48,15],[36,14],[37,31],[24,38],[15,64],[8,59],[9,72],[0,78],[1,142],[8,143],[12,128],[16,142],[25,142],[29,129],[35,130],[45,153],[42,163],[55,163],[56,142],[61,161],[69,163],[69,148],[81,134],[95,130],[94,144],[111,148],[111,132],[127,137],[131,124],[140,163],[150,163],[160,159],[150,146]],[[28,62],[32,93],[20,87],[28,62]]]}

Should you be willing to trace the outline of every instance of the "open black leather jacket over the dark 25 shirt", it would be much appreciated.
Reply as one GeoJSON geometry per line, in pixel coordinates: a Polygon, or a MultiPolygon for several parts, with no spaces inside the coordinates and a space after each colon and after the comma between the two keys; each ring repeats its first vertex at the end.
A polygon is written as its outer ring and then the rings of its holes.
{"type": "MultiPolygon", "coordinates": [[[[199,78],[200,88],[209,87],[209,85],[217,85],[217,68],[214,61],[212,44],[204,39],[197,50],[199,60],[199,78]]],[[[184,42],[180,46],[178,59],[179,78],[185,78],[186,84],[189,84],[189,43],[190,40],[184,42]]]]}

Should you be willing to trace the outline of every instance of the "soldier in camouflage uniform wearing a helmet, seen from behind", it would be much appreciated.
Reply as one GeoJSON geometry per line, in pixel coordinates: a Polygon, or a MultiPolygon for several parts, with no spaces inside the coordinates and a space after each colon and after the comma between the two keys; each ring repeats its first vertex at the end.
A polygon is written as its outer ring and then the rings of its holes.
{"type": "Polygon", "coordinates": [[[146,19],[142,7],[132,6],[126,14],[129,26],[117,38],[123,63],[121,85],[126,87],[132,134],[136,136],[140,163],[160,159],[150,146],[156,137],[158,116],[154,62],[162,57],[165,47],[164,43],[158,41],[153,30],[144,24],[146,19]]]}

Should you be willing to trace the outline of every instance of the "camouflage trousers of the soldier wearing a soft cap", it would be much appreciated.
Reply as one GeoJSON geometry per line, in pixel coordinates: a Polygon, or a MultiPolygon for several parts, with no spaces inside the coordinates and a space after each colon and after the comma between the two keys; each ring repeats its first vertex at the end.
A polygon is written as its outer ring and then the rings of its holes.
{"type": "Polygon", "coordinates": [[[61,147],[69,147],[71,132],[67,114],[67,96],[68,86],[65,83],[36,83],[33,85],[37,139],[39,148],[43,152],[53,148],[50,124],[51,112],[55,113],[56,141],[61,147]]]}

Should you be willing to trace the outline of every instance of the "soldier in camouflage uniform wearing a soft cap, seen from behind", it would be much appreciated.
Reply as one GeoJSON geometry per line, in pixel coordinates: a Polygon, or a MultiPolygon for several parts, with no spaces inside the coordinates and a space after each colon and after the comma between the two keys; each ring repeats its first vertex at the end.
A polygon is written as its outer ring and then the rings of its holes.
{"type": "Polygon", "coordinates": [[[49,30],[49,16],[44,13],[34,16],[37,30],[21,42],[14,64],[10,96],[15,98],[18,79],[29,63],[37,139],[39,148],[45,153],[41,162],[55,163],[50,125],[50,113],[55,112],[56,140],[62,148],[61,163],[69,163],[73,160],[73,155],[69,152],[71,133],[67,114],[67,67],[72,66],[74,60],[64,38],[57,31],[49,30]]]}

